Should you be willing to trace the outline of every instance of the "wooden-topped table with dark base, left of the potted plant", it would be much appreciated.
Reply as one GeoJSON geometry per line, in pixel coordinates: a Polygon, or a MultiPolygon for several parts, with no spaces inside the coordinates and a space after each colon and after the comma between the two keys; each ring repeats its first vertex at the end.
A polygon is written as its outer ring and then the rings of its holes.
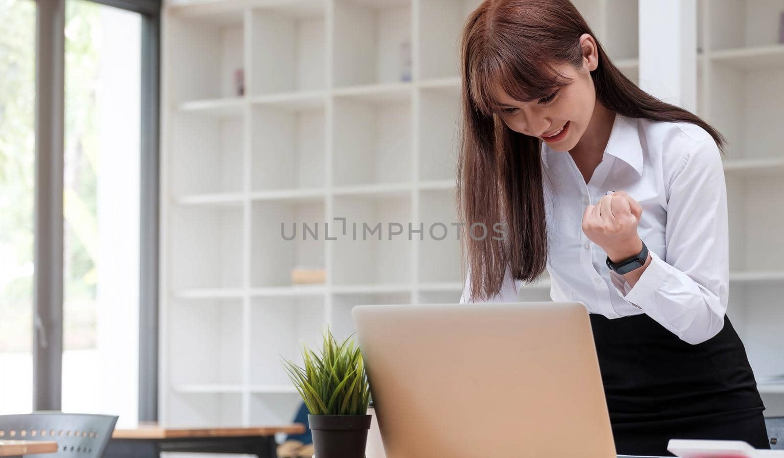
{"type": "Polygon", "coordinates": [[[276,433],[302,434],[303,424],[270,427],[160,427],[140,425],[117,429],[111,435],[106,458],[158,458],[161,452],[245,453],[259,458],[276,458],[276,433]]]}

